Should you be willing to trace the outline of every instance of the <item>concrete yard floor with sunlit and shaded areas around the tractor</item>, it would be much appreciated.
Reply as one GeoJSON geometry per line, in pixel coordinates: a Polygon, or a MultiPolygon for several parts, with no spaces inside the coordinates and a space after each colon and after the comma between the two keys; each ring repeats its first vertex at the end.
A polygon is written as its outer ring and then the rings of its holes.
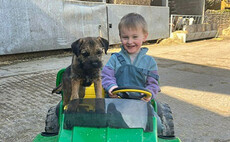
{"type": "MultiPolygon", "coordinates": [[[[176,136],[230,142],[230,40],[147,47],[159,67],[157,98],[171,106],[176,136]]],[[[0,142],[31,142],[44,131],[47,110],[61,99],[51,94],[56,74],[70,63],[67,55],[0,65],[0,142]]]]}

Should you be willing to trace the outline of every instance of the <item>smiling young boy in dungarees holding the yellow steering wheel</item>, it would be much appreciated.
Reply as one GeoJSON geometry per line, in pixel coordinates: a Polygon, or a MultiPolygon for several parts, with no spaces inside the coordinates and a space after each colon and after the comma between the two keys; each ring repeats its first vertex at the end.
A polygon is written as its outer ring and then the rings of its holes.
{"type": "Polygon", "coordinates": [[[151,91],[152,98],[144,97],[149,102],[160,91],[158,86],[157,64],[153,57],[146,55],[147,48],[141,48],[148,37],[147,23],[137,13],[125,15],[119,25],[121,51],[113,54],[102,70],[102,86],[109,97],[118,86],[139,86],[151,91]]]}

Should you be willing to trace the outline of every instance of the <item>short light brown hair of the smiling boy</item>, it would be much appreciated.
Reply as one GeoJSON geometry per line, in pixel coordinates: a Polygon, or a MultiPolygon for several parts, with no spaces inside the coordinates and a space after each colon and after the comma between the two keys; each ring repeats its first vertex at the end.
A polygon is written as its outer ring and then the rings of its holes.
{"type": "Polygon", "coordinates": [[[138,27],[142,28],[144,34],[148,33],[148,26],[144,17],[137,13],[129,13],[121,18],[118,25],[119,35],[123,28],[136,30],[138,27]]]}

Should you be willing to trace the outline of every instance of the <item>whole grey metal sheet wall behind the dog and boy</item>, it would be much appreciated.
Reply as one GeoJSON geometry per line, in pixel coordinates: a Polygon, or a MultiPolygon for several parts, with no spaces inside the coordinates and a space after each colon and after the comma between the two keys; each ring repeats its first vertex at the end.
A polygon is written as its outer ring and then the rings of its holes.
{"type": "Polygon", "coordinates": [[[118,44],[117,24],[128,12],[146,18],[148,40],[169,36],[168,7],[78,0],[3,0],[0,55],[70,48],[73,41],[86,36],[110,37],[110,44],[118,44]],[[108,28],[108,24],[112,27],[108,28]]]}

